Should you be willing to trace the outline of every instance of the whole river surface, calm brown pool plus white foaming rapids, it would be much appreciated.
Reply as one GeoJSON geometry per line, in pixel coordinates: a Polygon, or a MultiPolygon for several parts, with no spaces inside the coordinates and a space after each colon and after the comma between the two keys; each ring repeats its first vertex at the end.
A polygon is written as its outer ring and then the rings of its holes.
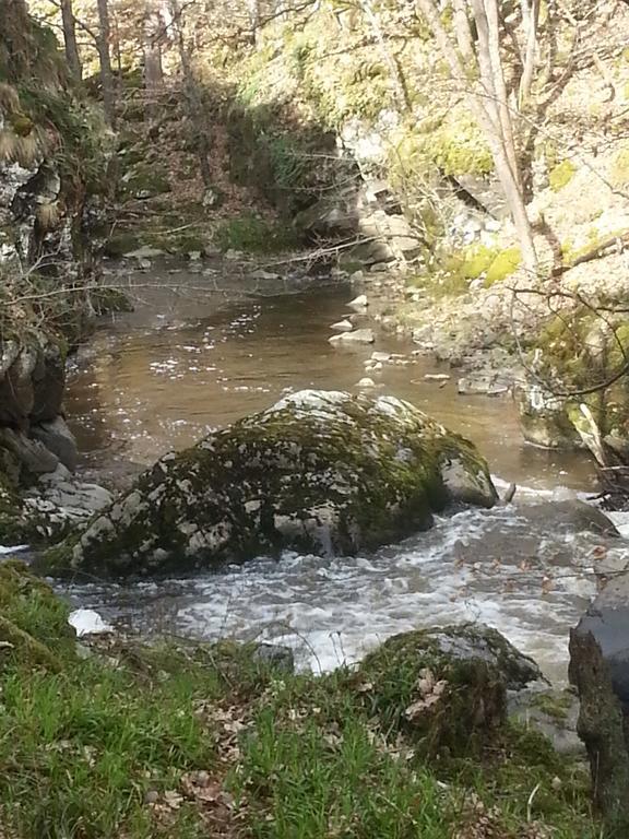
{"type": "Polygon", "coordinates": [[[330,324],[353,314],[346,286],[234,300],[202,293],[203,277],[183,280],[198,292],[146,294],[74,363],[66,404],[90,473],[127,474],[289,391],[357,391],[369,376],[375,392],[407,399],[474,440],[500,486],[526,489],[517,505],[441,518],[373,555],[286,554],[195,578],[94,581],[64,589],[72,601],[147,635],[275,639],[316,670],[354,661],[396,631],[478,619],[563,678],[568,629],[595,591],[592,571],[627,547],[537,504],[592,489],[588,461],[525,445],[509,399],[458,395],[456,373],[414,355],[407,339],[377,332],[375,345],[330,344],[330,324]],[[373,351],[392,357],[366,373],[373,351]],[[451,378],[425,378],[435,374],[451,378]]]}

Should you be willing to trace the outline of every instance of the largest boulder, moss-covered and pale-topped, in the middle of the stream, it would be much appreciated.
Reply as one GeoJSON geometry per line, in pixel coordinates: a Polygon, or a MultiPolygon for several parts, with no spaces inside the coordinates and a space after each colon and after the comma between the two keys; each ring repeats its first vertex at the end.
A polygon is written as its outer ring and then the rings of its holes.
{"type": "Polygon", "coordinates": [[[301,391],[169,453],[48,569],[122,576],[284,548],[355,554],[428,528],[451,501],[496,501],[475,447],[408,402],[301,391]]]}

